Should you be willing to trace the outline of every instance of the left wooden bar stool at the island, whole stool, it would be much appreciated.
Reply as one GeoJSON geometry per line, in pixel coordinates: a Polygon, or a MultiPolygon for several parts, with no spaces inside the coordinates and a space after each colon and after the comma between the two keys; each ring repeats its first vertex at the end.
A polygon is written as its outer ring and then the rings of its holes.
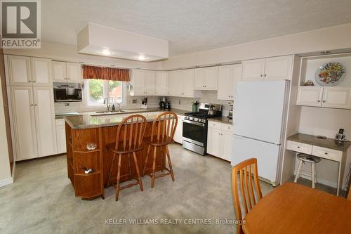
{"type": "Polygon", "coordinates": [[[143,138],[146,130],[146,118],[143,115],[131,115],[126,117],[118,126],[116,142],[109,143],[106,145],[107,150],[113,152],[112,163],[110,167],[110,174],[108,178],[108,183],[110,185],[112,180],[112,170],[114,166],[115,157],[118,155],[118,168],[117,168],[117,184],[116,184],[116,201],[118,201],[119,190],[124,188],[129,188],[139,184],[140,190],[143,189],[143,181],[140,178],[140,172],[138,167],[138,160],[135,152],[143,150],[143,138]],[[121,140],[122,139],[122,140],[121,140]],[[121,178],[121,157],[122,155],[128,156],[128,169],[129,169],[129,180],[132,179],[131,173],[131,158],[130,155],[133,154],[133,160],[135,164],[136,171],[136,182],[128,183],[126,186],[119,186],[119,180],[121,178]]]}

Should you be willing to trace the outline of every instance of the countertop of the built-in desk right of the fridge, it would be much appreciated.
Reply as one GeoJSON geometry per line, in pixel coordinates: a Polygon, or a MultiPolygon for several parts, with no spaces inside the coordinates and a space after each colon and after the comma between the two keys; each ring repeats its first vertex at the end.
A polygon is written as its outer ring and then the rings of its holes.
{"type": "Polygon", "coordinates": [[[333,138],[317,138],[317,136],[307,135],[307,134],[294,134],[292,136],[288,136],[289,141],[297,141],[300,143],[306,143],[310,145],[316,145],[324,148],[329,148],[333,150],[340,150],[345,152],[347,148],[350,147],[350,141],[336,141],[333,138]]]}

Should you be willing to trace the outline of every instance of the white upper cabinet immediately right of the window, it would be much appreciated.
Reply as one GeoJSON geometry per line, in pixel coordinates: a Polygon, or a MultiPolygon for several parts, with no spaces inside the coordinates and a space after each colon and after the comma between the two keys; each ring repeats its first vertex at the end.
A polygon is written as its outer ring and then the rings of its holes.
{"type": "Polygon", "coordinates": [[[149,70],[131,70],[131,96],[156,95],[156,72],[149,70]]]}

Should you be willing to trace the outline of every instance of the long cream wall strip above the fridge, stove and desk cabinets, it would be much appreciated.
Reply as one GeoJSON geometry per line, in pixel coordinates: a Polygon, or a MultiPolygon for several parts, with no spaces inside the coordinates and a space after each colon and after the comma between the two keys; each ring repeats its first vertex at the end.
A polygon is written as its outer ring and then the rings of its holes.
{"type": "Polygon", "coordinates": [[[345,48],[351,48],[351,24],[171,57],[162,62],[162,67],[172,69],[345,48]]]}

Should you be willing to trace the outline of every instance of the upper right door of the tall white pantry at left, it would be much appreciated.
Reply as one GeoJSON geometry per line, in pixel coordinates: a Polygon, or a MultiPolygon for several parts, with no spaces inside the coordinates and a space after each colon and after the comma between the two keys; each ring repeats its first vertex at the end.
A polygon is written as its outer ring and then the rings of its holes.
{"type": "Polygon", "coordinates": [[[52,86],[51,59],[31,58],[34,86],[52,86]]]}

